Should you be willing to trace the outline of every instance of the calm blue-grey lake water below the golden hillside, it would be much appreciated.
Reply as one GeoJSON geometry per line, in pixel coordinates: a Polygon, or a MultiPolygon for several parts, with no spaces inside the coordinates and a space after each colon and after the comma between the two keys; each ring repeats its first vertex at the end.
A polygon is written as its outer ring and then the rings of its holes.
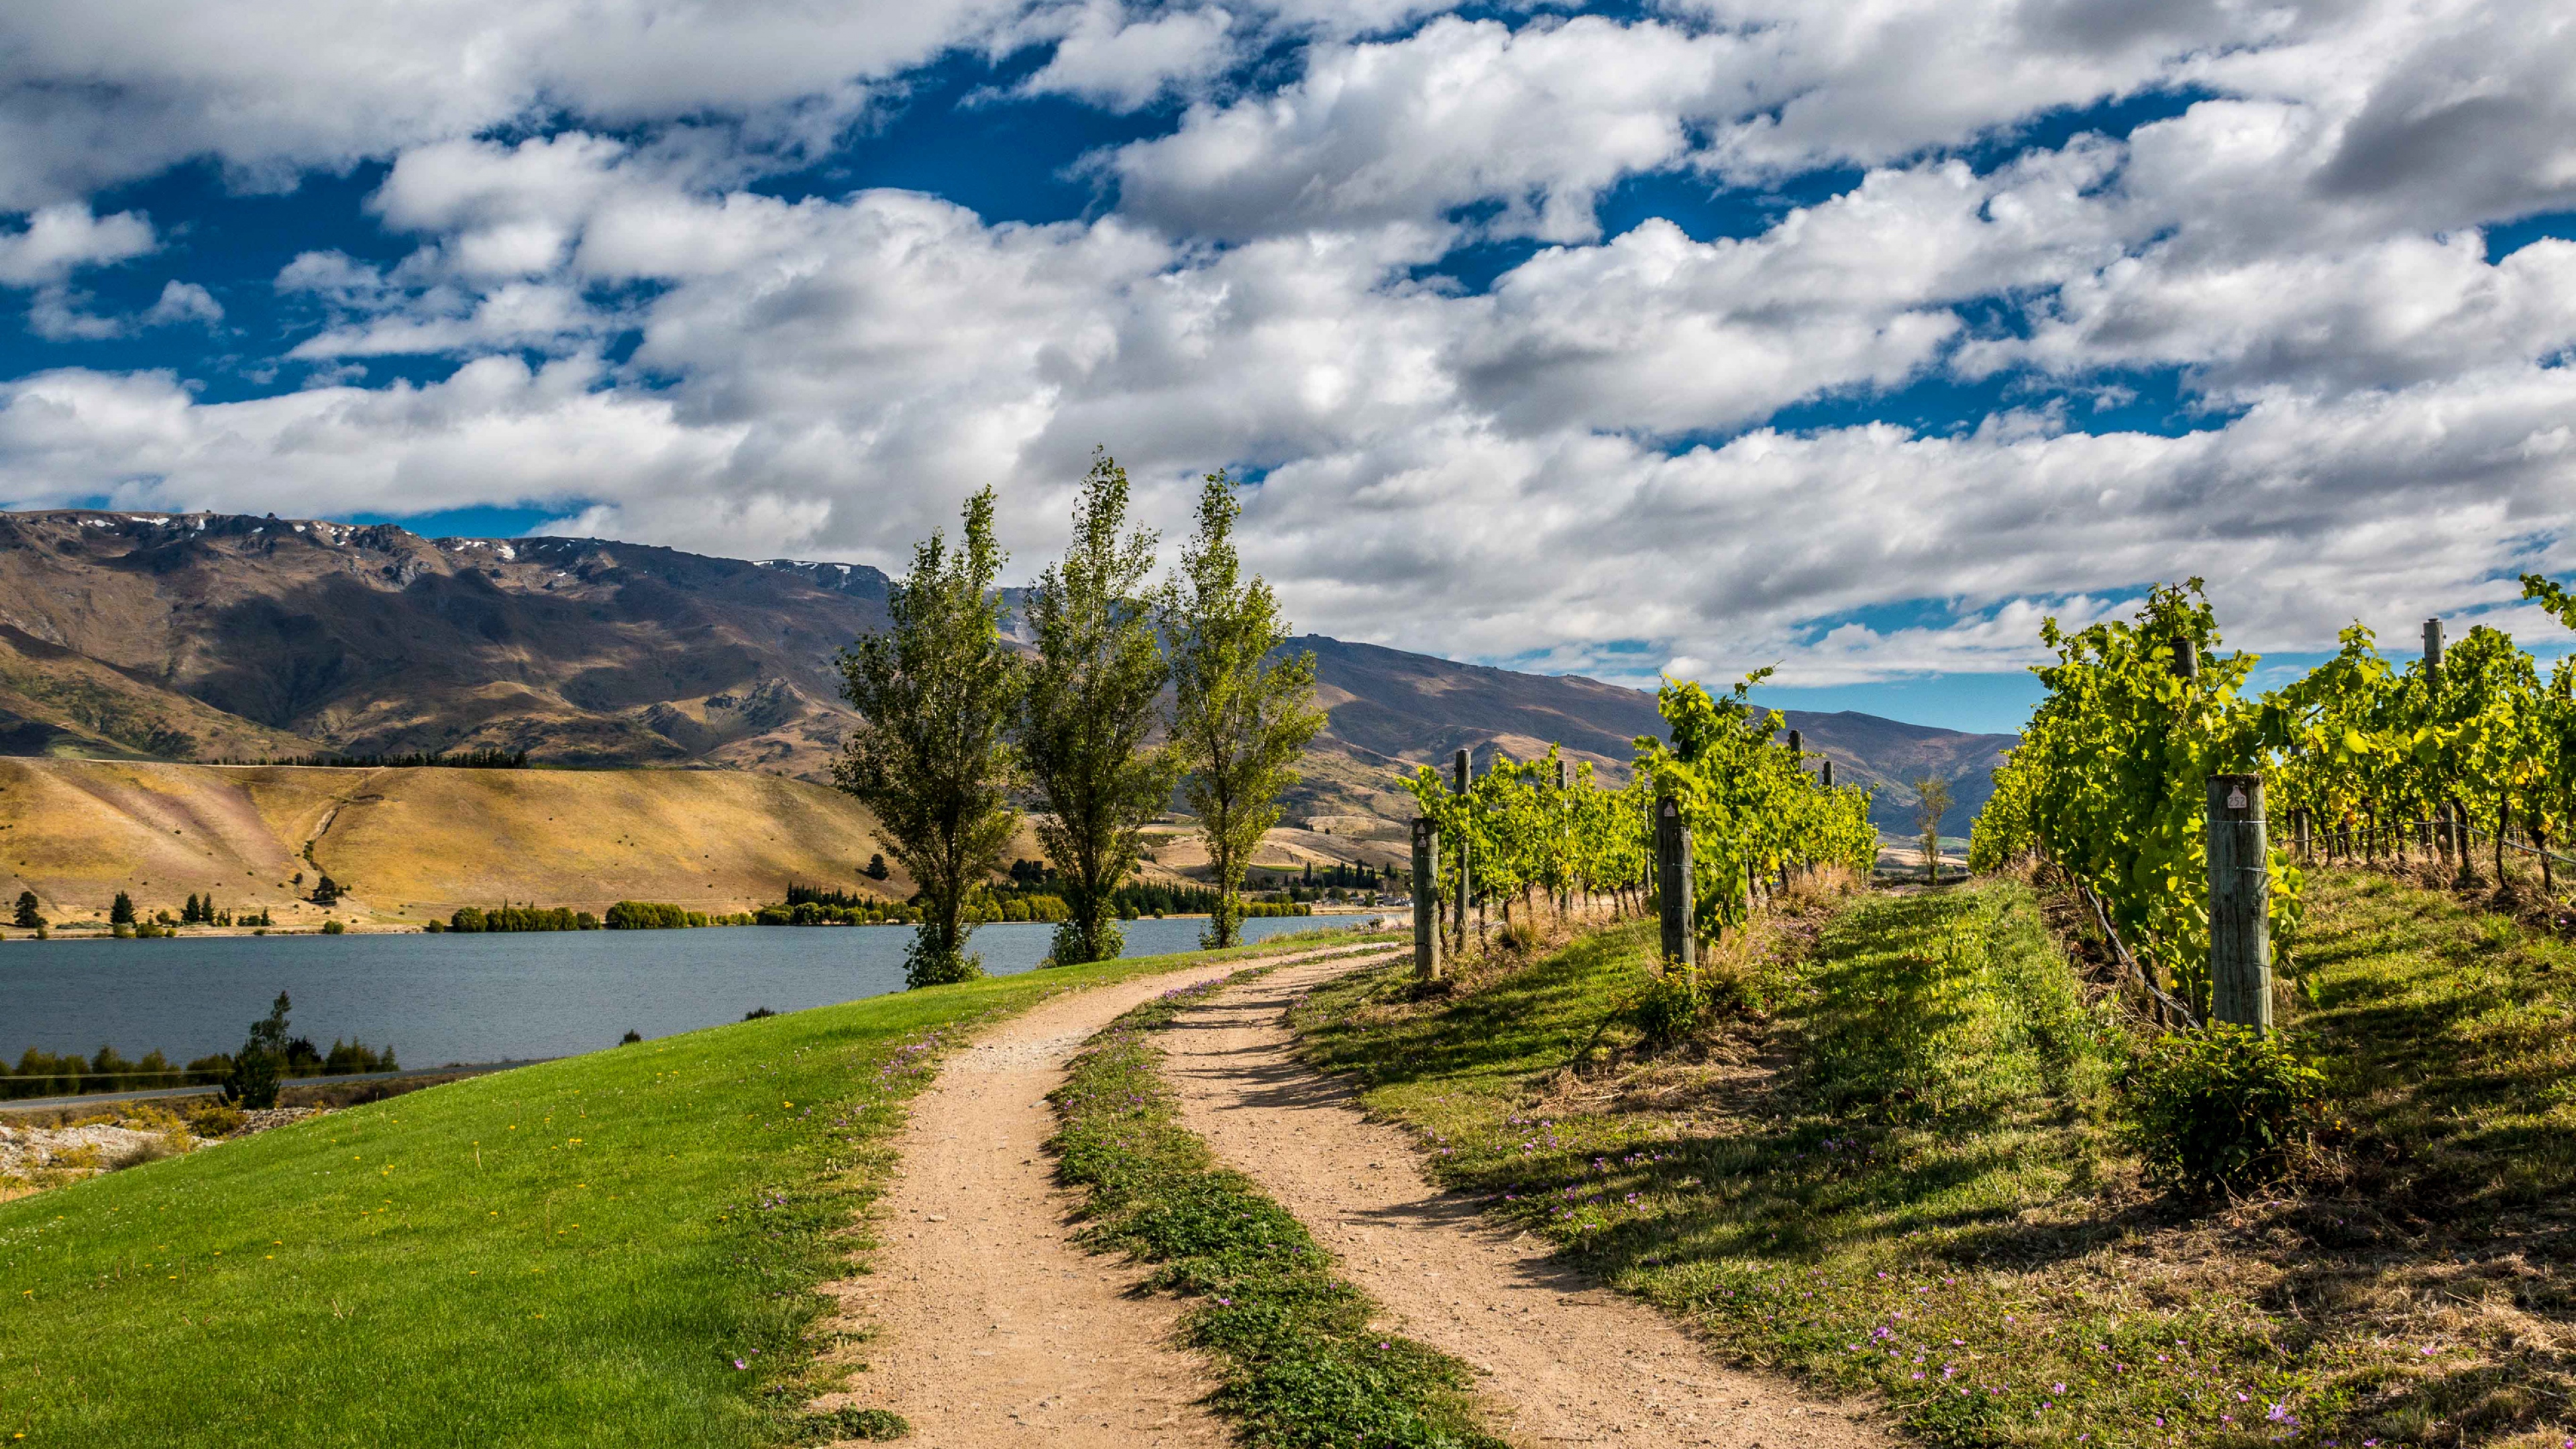
{"type": "MultiPolygon", "coordinates": [[[[1257,918],[1262,941],[1350,918],[1257,918]]],[[[1128,920],[1126,954],[1190,951],[1206,920],[1128,920]]],[[[1046,957],[1046,923],[969,944],[992,975],[1046,957]]],[[[294,1034],[392,1044],[404,1067],[567,1057],[626,1031],[670,1036],[744,1011],[804,1011],[904,987],[907,926],[721,926],[505,936],[180,936],[0,944],[0,1052],[28,1047],[173,1062],[232,1052],[283,990],[294,1034]]]]}

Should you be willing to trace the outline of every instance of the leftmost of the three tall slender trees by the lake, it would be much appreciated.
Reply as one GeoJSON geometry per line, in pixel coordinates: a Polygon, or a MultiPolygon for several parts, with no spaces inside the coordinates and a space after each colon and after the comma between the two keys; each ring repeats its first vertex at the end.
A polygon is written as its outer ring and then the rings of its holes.
{"type": "Polygon", "coordinates": [[[878,843],[920,884],[922,926],[904,957],[914,987],[984,975],[966,954],[966,897],[1002,869],[1020,822],[1010,727],[1025,673],[1002,647],[999,572],[987,487],[966,500],[956,549],[933,531],[912,552],[886,598],[886,632],[840,652],[860,722],[832,779],[876,812],[878,843]]]}

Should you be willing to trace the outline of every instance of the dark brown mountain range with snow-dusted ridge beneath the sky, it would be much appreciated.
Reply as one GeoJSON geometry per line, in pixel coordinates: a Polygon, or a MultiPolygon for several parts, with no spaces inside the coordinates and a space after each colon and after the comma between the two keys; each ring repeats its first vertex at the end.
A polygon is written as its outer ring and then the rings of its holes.
{"type": "MultiPolygon", "coordinates": [[[[0,513],[0,755],[273,761],[500,748],[554,766],[819,781],[850,722],[835,652],[886,621],[866,565],[603,539],[425,539],[234,513],[0,513]]],[[[1546,753],[1618,773],[1654,696],[1298,637],[1329,727],[1291,817],[1409,815],[1401,771],[1546,753]]],[[[1911,833],[1940,776],[1965,833],[2014,737],[1788,712],[1911,833]]],[[[1378,830],[1368,830],[1378,833],[1378,830]]]]}

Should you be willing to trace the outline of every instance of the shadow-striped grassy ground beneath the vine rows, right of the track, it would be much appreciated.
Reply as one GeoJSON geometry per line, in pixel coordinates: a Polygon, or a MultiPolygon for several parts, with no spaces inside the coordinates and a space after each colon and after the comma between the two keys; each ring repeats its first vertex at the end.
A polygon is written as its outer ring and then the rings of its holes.
{"type": "Polygon", "coordinates": [[[1700,1060],[1602,1029],[1646,951],[1623,928],[1422,1006],[1378,972],[1301,1024],[1458,1186],[1932,1441],[2558,1446],[2576,1421],[2576,951],[2318,877],[2300,1026],[2349,1124],[2306,1191],[2215,1207],[2138,1186],[2120,1036],[2017,884],[1862,900],[1754,972],[1772,1029],[1700,1060]]]}

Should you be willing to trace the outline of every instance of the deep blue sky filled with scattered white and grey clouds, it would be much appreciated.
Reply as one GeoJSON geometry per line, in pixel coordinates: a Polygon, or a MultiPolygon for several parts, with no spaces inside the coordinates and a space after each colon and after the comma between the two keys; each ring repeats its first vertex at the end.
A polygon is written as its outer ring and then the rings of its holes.
{"type": "Polygon", "coordinates": [[[0,503],[899,570],[1095,446],[1291,621],[2012,730],[2040,619],[2535,647],[2576,10],[26,0],[0,503]]]}

